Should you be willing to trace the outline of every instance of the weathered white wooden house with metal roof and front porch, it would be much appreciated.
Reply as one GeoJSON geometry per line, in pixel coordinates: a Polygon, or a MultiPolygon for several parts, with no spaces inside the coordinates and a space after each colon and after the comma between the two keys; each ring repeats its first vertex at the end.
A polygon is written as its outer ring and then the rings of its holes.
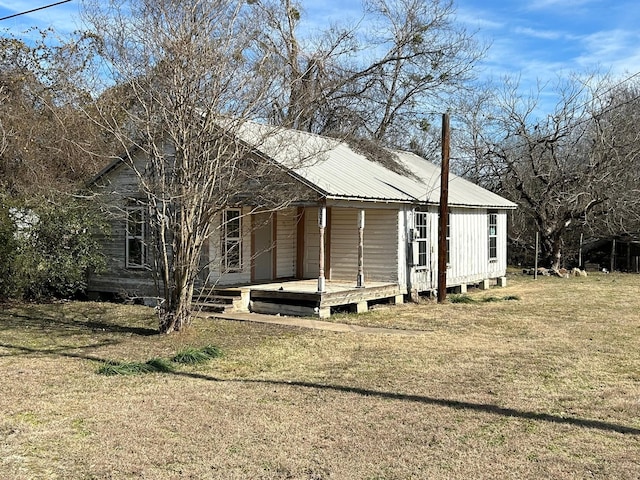
{"type": "MultiPolygon", "coordinates": [[[[385,150],[375,158],[346,142],[253,123],[238,136],[298,188],[286,208],[254,211],[239,204],[215,218],[201,292],[240,292],[235,305],[241,309],[326,317],[345,306],[362,311],[381,299],[401,302],[435,291],[438,166],[409,152],[385,150]],[[275,133],[265,135],[265,129],[275,133]]],[[[102,239],[108,271],[94,275],[89,290],[153,295],[142,207],[131,202],[137,177],[114,162],[93,185],[106,189],[127,215],[114,219],[111,236],[102,239]]],[[[503,284],[507,211],[513,208],[450,175],[447,287],[503,284]]]]}

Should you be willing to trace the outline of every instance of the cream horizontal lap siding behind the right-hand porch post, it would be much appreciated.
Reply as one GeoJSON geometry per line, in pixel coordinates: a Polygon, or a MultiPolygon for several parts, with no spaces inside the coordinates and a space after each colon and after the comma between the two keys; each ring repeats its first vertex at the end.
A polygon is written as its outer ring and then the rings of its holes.
{"type": "MultiPolygon", "coordinates": [[[[331,211],[331,278],[354,280],[358,273],[358,209],[331,211]]],[[[365,281],[398,280],[398,212],[365,211],[365,281]]]]}

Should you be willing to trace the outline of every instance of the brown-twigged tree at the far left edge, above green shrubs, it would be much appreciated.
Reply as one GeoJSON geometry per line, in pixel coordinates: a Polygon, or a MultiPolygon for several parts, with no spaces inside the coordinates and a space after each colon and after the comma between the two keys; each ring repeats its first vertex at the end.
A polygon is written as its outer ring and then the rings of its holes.
{"type": "Polygon", "coordinates": [[[85,152],[101,134],[81,110],[91,39],[54,37],[0,37],[0,188],[13,195],[68,191],[99,168],[85,152]]]}

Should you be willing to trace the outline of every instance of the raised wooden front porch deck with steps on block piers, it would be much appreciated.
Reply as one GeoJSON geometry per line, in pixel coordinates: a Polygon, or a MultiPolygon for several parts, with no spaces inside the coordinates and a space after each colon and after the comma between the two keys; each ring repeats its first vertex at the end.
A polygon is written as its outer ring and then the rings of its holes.
{"type": "Polygon", "coordinates": [[[347,281],[327,281],[324,291],[318,292],[317,280],[291,280],[216,287],[194,298],[194,306],[215,310],[226,304],[236,311],[328,318],[336,311],[366,312],[373,303],[401,304],[406,293],[397,284],[371,282],[356,287],[347,281]]]}

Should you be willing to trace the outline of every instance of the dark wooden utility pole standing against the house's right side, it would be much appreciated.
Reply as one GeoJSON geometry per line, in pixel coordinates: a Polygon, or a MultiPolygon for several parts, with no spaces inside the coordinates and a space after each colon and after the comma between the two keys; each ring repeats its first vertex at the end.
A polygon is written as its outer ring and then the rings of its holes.
{"type": "Polygon", "coordinates": [[[449,114],[442,114],[442,167],[438,222],[438,303],[447,299],[447,222],[449,217],[449,114]]]}

